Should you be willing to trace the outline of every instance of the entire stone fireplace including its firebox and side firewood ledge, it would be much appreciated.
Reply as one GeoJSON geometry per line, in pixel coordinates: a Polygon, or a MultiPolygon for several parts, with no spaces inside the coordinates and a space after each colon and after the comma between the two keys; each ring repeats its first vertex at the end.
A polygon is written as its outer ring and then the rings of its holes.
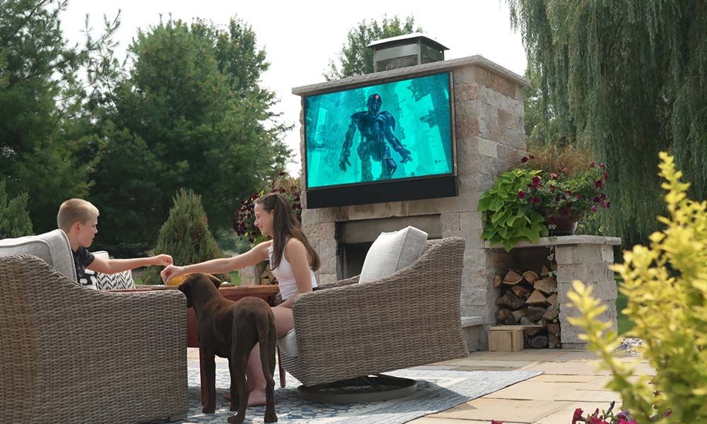
{"type": "MultiPolygon", "coordinates": [[[[292,91],[304,98],[327,90],[436,71],[452,71],[453,74],[458,195],[328,208],[307,208],[305,196],[302,196],[302,224],[322,259],[317,281],[323,284],[360,273],[368,247],[380,232],[413,225],[426,231],[429,238],[462,237],[465,241],[460,305],[462,327],[469,351],[475,351],[488,348],[487,330],[496,324],[496,299],[500,290],[493,286],[494,276],[501,269],[517,266],[527,257],[522,249],[507,254],[503,249],[484,243],[477,205],[479,196],[491,187],[496,177],[517,166],[526,153],[523,90],[530,82],[484,57],[472,56],[303,86],[292,91]]],[[[302,113],[300,121],[303,119],[302,113]]],[[[304,157],[304,125],[300,123],[300,153],[304,157]]],[[[305,193],[304,179],[302,181],[305,193]]],[[[544,247],[518,247],[547,249],[548,245],[556,246],[560,303],[567,301],[571,278],[588,278],[612,306],[607,318],[615,322],[616,286],[607,264],[613,261],[611,245],[620,240],[576,237],[580,238],[564,242],[561,239],[565,237],[549,237],[542,240],[544,247]]],[[[252,269],[243,270],[243,283],[252,283],[255,280],[252,274],[252,269]]],[[[566,324],[569,314],[562,309],[559,313],[563,345],[566,343],[563,347],[582,347],[578,330],[566,324]]]]}

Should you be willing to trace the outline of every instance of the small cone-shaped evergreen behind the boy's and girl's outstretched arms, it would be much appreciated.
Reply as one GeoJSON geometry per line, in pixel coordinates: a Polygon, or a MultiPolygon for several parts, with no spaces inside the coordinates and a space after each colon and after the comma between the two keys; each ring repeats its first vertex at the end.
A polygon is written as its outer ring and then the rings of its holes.
{"type": "MultiPolygon", "coordinates": [[[[209,230],[209,219],[201,204],[201,196],[192,190],[180,189],[173,198],[170,216],[160,228],[154,254],[169,254],[177,265],[189,265],[223,257],[209,230]]],[[[147,284],[161,282],[159,267],[148,269],[143,281],[147,284]]],[[[226,279],[227,276],[217,276],[226,279]]]]}

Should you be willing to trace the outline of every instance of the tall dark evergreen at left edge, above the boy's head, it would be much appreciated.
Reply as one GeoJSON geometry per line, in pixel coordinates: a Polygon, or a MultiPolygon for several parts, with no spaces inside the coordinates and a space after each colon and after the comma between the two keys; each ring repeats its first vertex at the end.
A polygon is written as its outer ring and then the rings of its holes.
{"type": "Polygon", "coordinates": [[[0,1],[0,175],[10,196],[28,192],[38,232],[56,228],[57,208],[83,197],[95,165],[88,102],[95,88],[81,71],[110,48],[117,18],[83,47],[66,45],[59,15],[66,0],[0,1]]]}

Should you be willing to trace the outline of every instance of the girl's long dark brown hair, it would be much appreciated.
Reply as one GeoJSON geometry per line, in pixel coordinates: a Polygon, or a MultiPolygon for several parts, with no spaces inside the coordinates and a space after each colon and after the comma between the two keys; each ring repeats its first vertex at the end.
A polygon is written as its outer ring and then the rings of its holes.
{"type": "Polygon", "coordinates": [[[302,231],[302,226],[285,197],[279,193],[269,193],[260,196],[255,203],[262,206],[268,213],[273,213],[272,244],[274,257],[272,258],[270,269],[277,268],[280,265],[282,252],[285,250],[285,242],[288,237],[294,237],[305,245],[308,256],[312,261],[310,266],[314,271],[317,271],[321,263],[319,255],[315,252],[315,249],[312,249],[312,245],[307,240],[307,236],[302,231]]]}

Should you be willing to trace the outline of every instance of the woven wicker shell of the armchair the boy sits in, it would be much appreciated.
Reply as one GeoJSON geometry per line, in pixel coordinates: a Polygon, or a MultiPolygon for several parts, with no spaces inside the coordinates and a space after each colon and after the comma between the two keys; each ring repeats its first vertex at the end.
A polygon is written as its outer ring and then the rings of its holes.
{"type": "Polygon", "coordinates": [[[186,300],[83,288],[30,255],[0,258],[0,423],[187,416],[186,300]]]}

